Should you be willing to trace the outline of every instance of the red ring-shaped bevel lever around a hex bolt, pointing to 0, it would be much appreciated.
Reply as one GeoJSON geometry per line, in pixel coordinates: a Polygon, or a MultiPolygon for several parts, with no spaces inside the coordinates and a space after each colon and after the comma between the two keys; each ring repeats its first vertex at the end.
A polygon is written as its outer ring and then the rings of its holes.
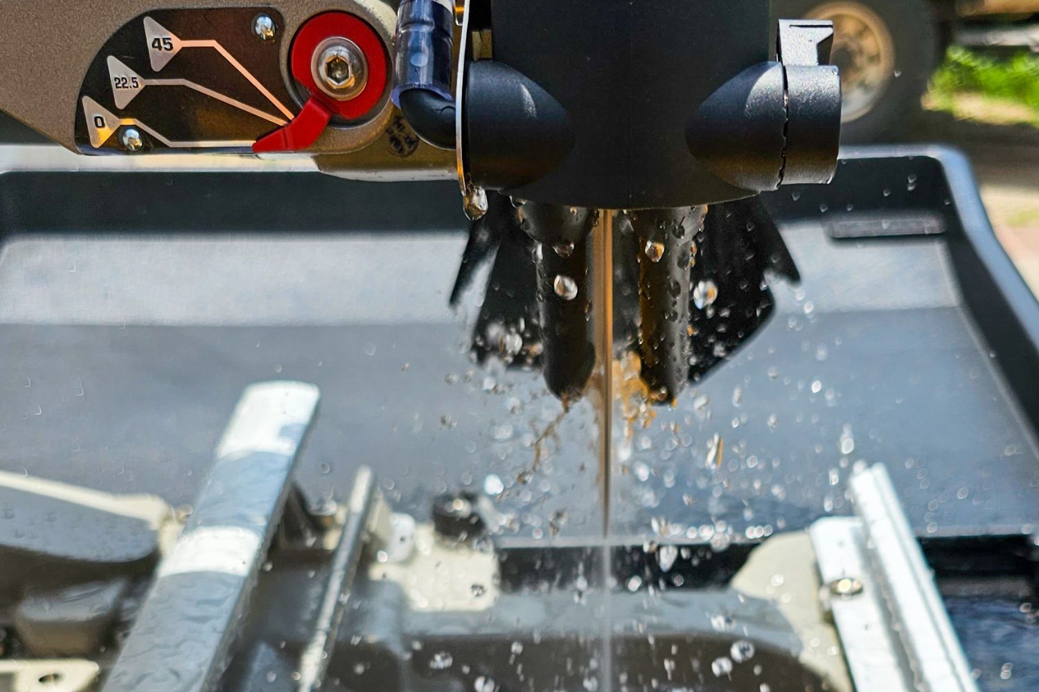
{"type": "Polygon", "coordinates": [[[363,117],[382,101],[390,85],[390,58],[382,39],[364,20],[347,12],[324,12],[308,20],[292,41],[289,66],[293,78],[310,92],[310,99],[289,124],[252,144],[256,154],[309,148],[332,116],[347,120],[363,117]],[[330,95],[327,86],[322,88],[316,81],[320,78],[319,59],[329,46],[336,46],[337,39],[353,44],[366,63],[366,81],[348,99],[330,95]]]}

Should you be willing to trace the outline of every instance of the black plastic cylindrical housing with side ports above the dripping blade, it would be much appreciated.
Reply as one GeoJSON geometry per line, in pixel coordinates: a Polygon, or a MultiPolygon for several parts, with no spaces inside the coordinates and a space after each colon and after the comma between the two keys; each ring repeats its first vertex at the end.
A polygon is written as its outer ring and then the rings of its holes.
{"type": "Polygon", "coordinates": [[[461,104],[472,183],[670,209],[832,176],[828,23],[782,23],[777,46],[768,0],[488,1],[494,59],[469,63],[461,104]]]}

